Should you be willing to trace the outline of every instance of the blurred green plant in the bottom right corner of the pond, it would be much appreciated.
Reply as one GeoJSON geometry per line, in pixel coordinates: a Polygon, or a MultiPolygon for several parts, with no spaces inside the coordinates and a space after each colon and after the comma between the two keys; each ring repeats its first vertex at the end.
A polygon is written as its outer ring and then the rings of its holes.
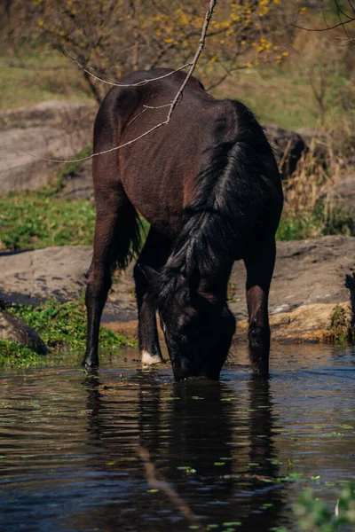
{"type": "Polygon", "coordinates": [[[355,484],[347,483],[330,512],[324,501],[305,489],[295,506],[297,527],[304,532],[335,532],[341,526],[355,526],[355,484]]]}

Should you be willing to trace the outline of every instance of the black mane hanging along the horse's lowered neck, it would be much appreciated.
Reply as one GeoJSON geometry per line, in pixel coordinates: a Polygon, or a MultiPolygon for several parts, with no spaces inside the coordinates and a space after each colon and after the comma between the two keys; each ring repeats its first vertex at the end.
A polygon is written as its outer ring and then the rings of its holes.
{"type": "Polygon", "coordinates": [[[201,266],[213,268],[214,256],[233,261],[252,221],[250,213],[255,219],[263,210],[258,200],[261,204],[265,160],[272,149],[253,113],[232,103],[238,113],[235,129],[230,140],[206,151],[208,163],[197,176],[182,229],[157,279],[154,292],[161,303],[169,303],[179,274],[188,280],[201,266]]]}

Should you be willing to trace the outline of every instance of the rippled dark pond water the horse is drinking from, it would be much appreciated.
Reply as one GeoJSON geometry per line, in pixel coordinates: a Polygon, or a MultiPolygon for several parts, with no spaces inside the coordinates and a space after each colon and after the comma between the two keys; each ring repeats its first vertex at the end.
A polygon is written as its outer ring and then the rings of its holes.
{"type": "Polygon", "coordinates": [[[3,373],[2,532],[294,530],[304,487],[354,479],[354,348],[274,346],[268,383],[244,347],[220,383],[135,358],[3,373]]]}

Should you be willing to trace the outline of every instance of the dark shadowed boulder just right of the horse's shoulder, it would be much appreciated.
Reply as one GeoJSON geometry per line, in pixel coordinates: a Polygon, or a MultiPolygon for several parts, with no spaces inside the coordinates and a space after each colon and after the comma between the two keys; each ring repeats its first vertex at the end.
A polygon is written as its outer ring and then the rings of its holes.
{"type": "Polygon", "coordinates": [[[302,153],[308,149],[304,139],[296,131],[274,124],[265,125],[264,130],[274,150],[282,178],[291,176],[302,153]]]}

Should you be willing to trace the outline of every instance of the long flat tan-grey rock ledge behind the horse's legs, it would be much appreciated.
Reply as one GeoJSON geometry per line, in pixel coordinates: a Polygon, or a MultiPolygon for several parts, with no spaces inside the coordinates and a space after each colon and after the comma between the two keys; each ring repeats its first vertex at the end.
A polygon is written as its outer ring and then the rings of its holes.
{"type": "MultiPolygon", "coordinates": [[[[38,304],[48,299],[66,301],[85,288],[85,272],[91,263],[90,246],[48,247],[20,254],[0,254],[0,299],[38,304]]],[[[270,293],[271,313],[302,305],[350,301],[344,286],[346,274],[355,271],[355,238],[329,236],[321,239],[277,243],[277,260],[270,293]]],[[[230,308],[238,319],[247,317],[246,274],[242,261],[235,262],[231,281],[235,286],[230,308]]],[[[132,265],[114,283],[104,321],[137,318],[132,265]]]]}

